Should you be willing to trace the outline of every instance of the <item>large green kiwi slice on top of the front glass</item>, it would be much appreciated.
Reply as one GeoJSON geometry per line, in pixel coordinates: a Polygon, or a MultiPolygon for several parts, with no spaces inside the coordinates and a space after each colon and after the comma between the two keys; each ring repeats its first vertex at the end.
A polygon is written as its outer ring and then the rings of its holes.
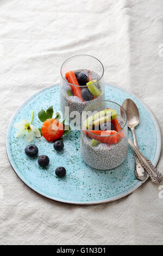
{"type": "Polygon", "coordinates": [[[87,130],[93,129],[95,126],[99,126],[103,123],[107,123],[110,120],[113,120],[117,117],[117,112],[115,109],[104,109],[99,111],[95,115],[91,115],[91,117],[87,118],[84,121],[84,126],[87,130]]]}

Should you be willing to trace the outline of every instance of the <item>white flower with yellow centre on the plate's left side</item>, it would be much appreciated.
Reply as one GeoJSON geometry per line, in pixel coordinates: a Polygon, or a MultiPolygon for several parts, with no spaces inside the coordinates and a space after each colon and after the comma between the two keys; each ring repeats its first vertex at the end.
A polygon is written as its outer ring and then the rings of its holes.
{"type": "Polygon", "coordinates": [[[26,140],[31,142],[34,136],[41,137],[39,129],[30,124],[26,119],[23,119],[20,123],[14,124],[14,127],[18,130],[16,132],[16,138],[26,135],[26,140]]]}

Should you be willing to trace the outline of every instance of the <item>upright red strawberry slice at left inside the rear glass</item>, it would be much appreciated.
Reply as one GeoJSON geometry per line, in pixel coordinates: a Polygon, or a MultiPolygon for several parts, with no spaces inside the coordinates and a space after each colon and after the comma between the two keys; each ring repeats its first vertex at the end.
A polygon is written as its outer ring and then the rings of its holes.
{"type": "Polygon", "coordinates": [[[81,96],[81,89],[80,89],[78,80],[77,80],[74,72],[71,70],[71,71],[67,72],[65,74],[65,76],[66,76],[66,80],[68,81],[68,83],[74,84],[74,86],[72,86],[70,84],[73,95],[79,97],[80,100],[84,101],[81,96]]]}

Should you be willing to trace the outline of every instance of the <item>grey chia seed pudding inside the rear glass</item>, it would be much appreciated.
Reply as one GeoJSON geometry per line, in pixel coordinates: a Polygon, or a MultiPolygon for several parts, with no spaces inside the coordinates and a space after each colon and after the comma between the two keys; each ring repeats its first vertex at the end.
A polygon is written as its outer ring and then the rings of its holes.
{"type": "MultiPolygon", "coordinates": [[[[87,69],[78,69],[74,70],[74,73],[77,72],[83,72],[87,77],[89,77],[89,70],[87,69]]],[[[99,75],[97,75],[94,71],[90,71],[91,80],[99,80],[99,75]]],[[[88,101],[82,101],[79,97],[74,96],[72,94],[72,89],[68,82],[66,81],[66,77],[64,77],[65,80],[61,80],[61,86],[60,86],[60,109],[61,112],[64,114],[65,107],[69,107],[69,112],[72,111],[78,111],[80,115],[82,115],[82,111],[86,106],[88,106],[90,103],[103,100],[104,95],[104,84],[101,82],[96,83],[96,87],[101,90],[101,95],[94,96],[94,99],[88,100],[88,101]],[[72,95],[71,95],[72,94],[72,95]]],[[[81,92],[84,88],[87,88],[86,86],[80,86],[81,92]]]]}

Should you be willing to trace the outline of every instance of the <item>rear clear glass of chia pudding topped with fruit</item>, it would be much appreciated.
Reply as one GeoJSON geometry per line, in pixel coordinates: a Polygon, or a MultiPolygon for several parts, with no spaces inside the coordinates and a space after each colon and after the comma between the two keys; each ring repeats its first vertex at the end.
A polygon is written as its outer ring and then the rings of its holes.
{"type": "Polygon", "coordinates": [[[72,56],[61,66],[60,109],[65,113],[83,109],[91,102],[103,100],[105,95],[103,82],[104,68],[95,57],[86,54],[72,56]]]}

